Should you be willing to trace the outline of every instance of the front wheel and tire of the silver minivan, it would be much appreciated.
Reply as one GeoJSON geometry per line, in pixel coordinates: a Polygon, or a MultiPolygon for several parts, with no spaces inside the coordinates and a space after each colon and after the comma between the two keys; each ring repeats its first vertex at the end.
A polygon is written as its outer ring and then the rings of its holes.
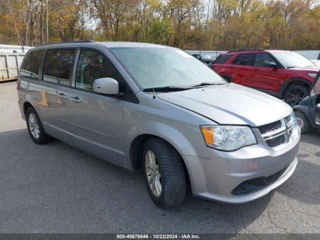
{"type": "Polygon", "coordinates": [[[142,149],[145,184],[152,201],[161,208],[179,205],[186,192],[182,157],[167,141],[152,137],[142,149]]]}

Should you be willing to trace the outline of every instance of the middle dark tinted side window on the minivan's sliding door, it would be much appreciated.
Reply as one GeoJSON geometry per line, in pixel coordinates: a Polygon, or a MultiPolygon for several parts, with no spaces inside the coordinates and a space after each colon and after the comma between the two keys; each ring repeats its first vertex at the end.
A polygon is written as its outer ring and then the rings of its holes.
{"type": "Polygon", "coordinates": [[[48,50],[43,69],[43,80],[68,85],[74,49],[48,50]]]}

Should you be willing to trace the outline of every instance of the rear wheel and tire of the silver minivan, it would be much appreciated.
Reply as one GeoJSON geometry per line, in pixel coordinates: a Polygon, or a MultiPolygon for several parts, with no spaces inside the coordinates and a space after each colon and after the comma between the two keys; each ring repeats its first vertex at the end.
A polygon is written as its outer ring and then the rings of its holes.
{"type": "Polygon", "coordinates": [[[44,132],[40,118],[33,106],[26,110],[25,119],[29,135],[36,144],[45,144],[52,140],[51,136],[44,132]]]}

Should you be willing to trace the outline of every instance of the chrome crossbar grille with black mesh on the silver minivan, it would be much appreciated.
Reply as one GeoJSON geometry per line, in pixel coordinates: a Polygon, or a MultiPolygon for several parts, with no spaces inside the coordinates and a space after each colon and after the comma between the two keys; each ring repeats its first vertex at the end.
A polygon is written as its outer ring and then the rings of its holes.
{"type": "Polygon", "coordinates": [[[279,149],[276,148],[278,145],[289,142],[292,135],[293,123],[294,119],[291,115],[288,115],[283,119],[258,126],[257,128],[269,147],[279,149]]]}

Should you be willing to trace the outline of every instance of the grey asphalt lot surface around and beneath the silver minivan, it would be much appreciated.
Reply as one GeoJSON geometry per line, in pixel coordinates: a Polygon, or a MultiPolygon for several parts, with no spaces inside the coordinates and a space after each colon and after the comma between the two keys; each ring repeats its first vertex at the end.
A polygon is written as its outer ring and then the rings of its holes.
{"type": "Polygon", "coordinates": [[[1,233],[320,233],[320,131],[302,135],[294,174],[265,197],[228,205],[189,195],[162,210],[141,172],[58,140],[33,143],[15,86],[0,83],[1,233]]]}

